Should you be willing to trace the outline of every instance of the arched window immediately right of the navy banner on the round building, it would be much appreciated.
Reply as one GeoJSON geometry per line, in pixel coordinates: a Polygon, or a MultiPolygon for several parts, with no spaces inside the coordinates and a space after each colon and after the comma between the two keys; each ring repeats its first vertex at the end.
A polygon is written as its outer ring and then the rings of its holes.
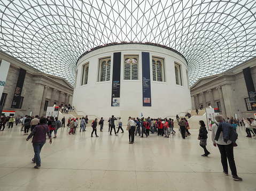
{"type": "Polygon", "coordinates": [[[164,60],[157,57],[152,57],[152,74],[153,81],[165,81],[164,75],[164,60]]]}

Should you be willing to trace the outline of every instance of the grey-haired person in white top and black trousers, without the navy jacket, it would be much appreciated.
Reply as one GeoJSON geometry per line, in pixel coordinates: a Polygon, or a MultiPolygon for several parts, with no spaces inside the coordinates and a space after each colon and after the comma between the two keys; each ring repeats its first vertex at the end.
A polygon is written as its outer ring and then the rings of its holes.
{"type": "Polygon", "coordinates": [[[221,164],[223,167],[224,175],[228,176],[228,163],[229,163],[229,167],[230,167],[230,170],[232,173],[232,178],[234,180],[241,181],[243,179],[237,176],[237,171],[236,171],[236,164],[235,164],[235,160],[234,160],[234,145],[232,144],[232,142],[230,140],[228,140],[227,142],[224,142],[223,131],[220,132],[218,140],[215,140],[218,126],[221,123],[223,123],[222,118],[223,118],[222,115],[215,116],[216,123],[214,123],[212,126],[213,146],[215,146],[215,147],[218,146],[218,148],[219,148],[219,151],[221,154],[221,164]],[[228,161],[227,161],[227,158],[228,158],[228,161]]]}

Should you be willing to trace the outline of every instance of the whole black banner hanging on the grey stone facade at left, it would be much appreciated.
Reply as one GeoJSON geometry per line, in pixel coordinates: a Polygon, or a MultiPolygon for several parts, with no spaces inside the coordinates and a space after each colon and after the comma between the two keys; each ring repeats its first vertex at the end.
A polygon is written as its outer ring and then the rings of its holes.
{"type": "Polygon", "coordinates": [[[20,107],[20,104],[21,104],[20,103],[20,101],[21,101],[20,96],[21,96],[21,92],[22,92],[22,88],[23,88],[26,73],[27,73],[27,70],[24,70],[22,68],[20,69],[17,85],[16,85],[14,96],[13,96],[13,99],[12,99],[11,108],[18,109],[20,107]]]}

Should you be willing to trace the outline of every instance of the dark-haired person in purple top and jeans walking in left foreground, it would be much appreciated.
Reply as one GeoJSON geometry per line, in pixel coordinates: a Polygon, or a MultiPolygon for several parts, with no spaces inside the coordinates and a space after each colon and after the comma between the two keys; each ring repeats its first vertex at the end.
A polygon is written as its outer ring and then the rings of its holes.
{"type": "Polygon", "coordinates": [[[45,135],[46,134],[50,138],[50,144],[51,144],[52,139],[51,139],[51,134],[50,134],[48,125],[46,124],[46,119],[41,118],[40,119],[40,124],[37,125],[33,129],[33,131],[30,133],[30,135],[26,139],[28,141],[33,136],[32,143],[33,143],[35,155],[34,155],[34,158],[32,159],[32,161],[34,163],[36,163],[36,165],[34,167],[35,169],[38,169],[38,168],[41,167],[40,152],[41,152],[41,149],[42,149],[43,145],[45,144],[45,141],[46,141],[46,136],[45,135]]]}

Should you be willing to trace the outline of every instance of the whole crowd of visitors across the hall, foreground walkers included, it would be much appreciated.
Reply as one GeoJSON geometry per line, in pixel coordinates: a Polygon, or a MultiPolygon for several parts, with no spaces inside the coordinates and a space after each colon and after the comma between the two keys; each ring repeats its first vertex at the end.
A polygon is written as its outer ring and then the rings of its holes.
{"type": "MultiPolygon", "coordinates": [[[[66,107],[68,109],[68,107],[66,107]]],[[[73,110],[73,109],[72,109],[73,110]]],[[[70,110],[69,110],[70,111],[70,110]]],[[[179,116],[176,116],[176,119],[179,125],[179,131],[181,134],[181,137],[185,139],[185,137],[190,136],[189,132],[189,123],[186,118],[179,118],[179,116]],[[179,119],[179,120],[178,120],[179,119]]],[[[46,142],[45,135],[48,135],[50,139],[50,144],[52,143],[52,132],[54,132],[54,137],[57,138],[57,131],[61,127],[65,127],[66,119],[63,117],[60,120],[58,118],[53,117],[39,117],[38,115],[35,115],[33,117],[30,117],[29,115],[25,115],[25,117],[5,117],[3,115],[0,119],[0,130],[3,127],[3,130],[5,128],[5,124],[9,128],[13,128],[13,124],[16,124],[16,126],[21,123],[21,131],[24,131],[24,135],[28,135],[28,131],[30,129],[30,135],[27,137],[27,140],[33,137],[32,143],[34,147],[34,158],[32,161],[36,163],[34,168],[40,168],[41,167],[41,159],[40,159],[40,152],[43,147],[43,145],[46,142]],[[24,129],[24,130],[23,130],[24,129]]],[[[115,118],[114,115],[108,119],[108,132],[109,135],[112,135],[112,131],[114,131],[115,136],[118,136],[119,131],[121,133],[125,132],[122,128],[123,122],[121,120],[121,117],[115,118]],[[118,121],[118,122],[115,122],[118,121]],[[117,124],[117,127],[115,126],[117,124]],[[118,130],[116,131],[116,128],[118,130]]],[[[80,132],[86,131],[86,127],[88,124],[88,115],[86,117],[82,117],[80,119],[78,118],[69,118],[67,120],[66,126],[70,128],[68,134],[74,135],[76,133],[76,128],[80,124],[80,132]],[[80,123],[79,123],[80,120],[80,123]]],[[[95,134],[96,137],[99,137],[97,135],[97,125],[100,126],[100,131],[103,131],[104,127],[104,119],[96,118],[91,123],[92,132],[91,137],[95,134]]],[[[256,121],[253,118],[246,118],[243,120],[239,119],[233,119],[232,117],[223,119],[221,115],[215,116],[215,122],[211,123],[212,125],[212,141],[214,146],[218,146],[220,154],[221,154],[221,163],[223,166],[223,173],[224,175],[228,175],[228,164],[227,159],[229,161],[231,173],[234,180],[242,180],[242,178],[237,176],[235,161],[234,161],[234,152],[233,148],[237,146],[236,139],[238,137],[237,135],[237,127],[239,126],[245,126],[246,129],[246,137],[252,137],[251,132],[253,136],[256,134],[256,121]]],[[[131,118],[129,117],[127,121],[127,128],[126,130],[129,132],[129,144],[135,143],[135,136],[139,136],[141,138],[149,137],[150,134],[157,134],[157,136],[169,138],[170,135],[175,136],[176,132],[173,129],[174,128],[174,120],[173,119],[152,119],[150,117],[148,118],[131,118]]],[[[205,122],[200,120],[199,121],[199,134],[198,139],[200,140],[199,145],[204,149],[204,154],[201,156],[208,157],[211,153],[207,150],[207,128],[205,125],[205,122]]],[[[255,138],[256,139],[256,138],[255,138]]]]}

